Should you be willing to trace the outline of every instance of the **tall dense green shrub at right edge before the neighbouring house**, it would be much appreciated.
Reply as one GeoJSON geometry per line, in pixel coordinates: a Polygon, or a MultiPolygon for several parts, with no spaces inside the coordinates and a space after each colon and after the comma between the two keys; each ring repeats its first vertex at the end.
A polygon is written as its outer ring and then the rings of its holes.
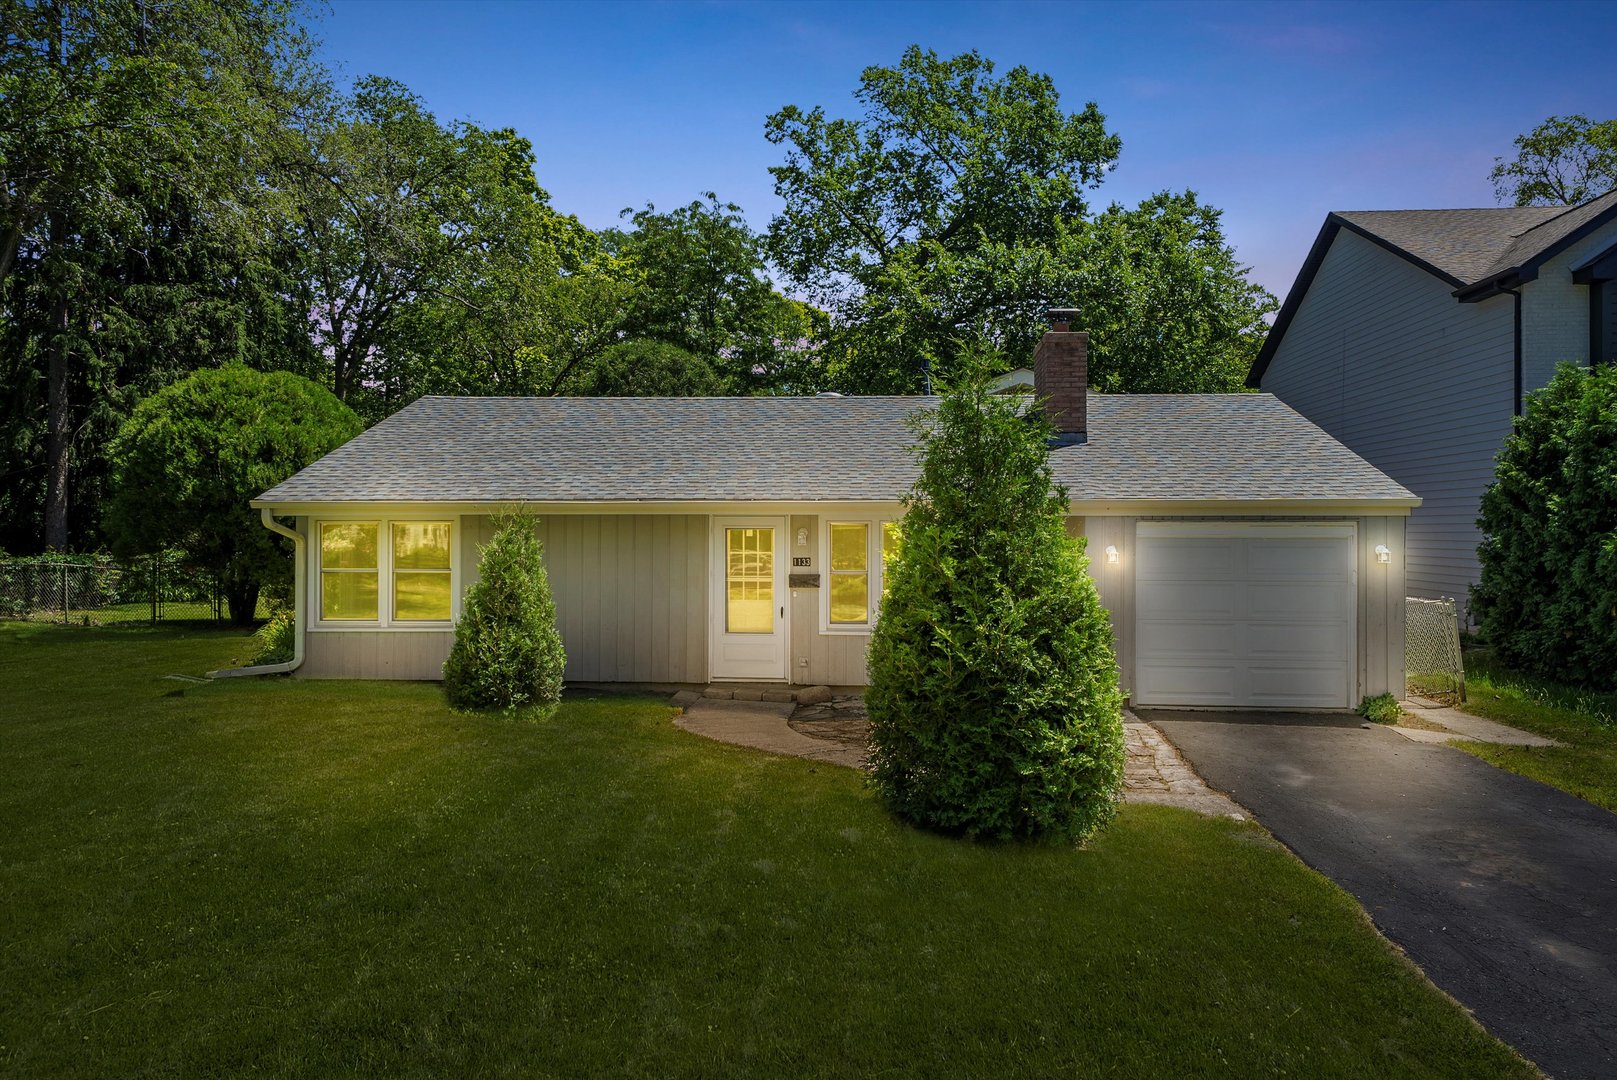
{"type": "Polygon", "coordinates": [[[1617,365],[1564,364],[1483,493],[1471,614],[1512,668],[1617,689],[1617,365]]]}

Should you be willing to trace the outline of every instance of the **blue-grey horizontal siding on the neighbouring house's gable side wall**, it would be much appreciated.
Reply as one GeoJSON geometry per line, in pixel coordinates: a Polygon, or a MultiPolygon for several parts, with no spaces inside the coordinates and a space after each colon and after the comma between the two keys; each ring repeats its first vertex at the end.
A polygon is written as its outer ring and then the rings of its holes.
{"type": "Polygon", "coordinates": [[[1463,605],[1478,577],[1478,503],[1515,409],[1514,304],[1460,304],[1344,228],[1263,373],[1264,391],[1425,500],[1408,519],[1410,595],[1463,605]]]}

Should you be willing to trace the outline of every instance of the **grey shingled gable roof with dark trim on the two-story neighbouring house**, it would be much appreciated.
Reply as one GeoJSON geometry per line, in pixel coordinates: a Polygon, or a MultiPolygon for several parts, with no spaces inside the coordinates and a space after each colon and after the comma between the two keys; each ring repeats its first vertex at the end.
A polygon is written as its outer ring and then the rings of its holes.
{"type": "Polygon", "coordinates": [[[1460,302],[1494,296],[1538,276],[1547,259],[1617,221],[1617,191],[1575,207],[1483,207],[1473,210],[1337,210],[1328,213],[1292,291],[1274,317],[1247,373],[1256,388],[1281,338],[1297,317],[1331,244],[1344,228],[1441,278],[1460,302]]]}

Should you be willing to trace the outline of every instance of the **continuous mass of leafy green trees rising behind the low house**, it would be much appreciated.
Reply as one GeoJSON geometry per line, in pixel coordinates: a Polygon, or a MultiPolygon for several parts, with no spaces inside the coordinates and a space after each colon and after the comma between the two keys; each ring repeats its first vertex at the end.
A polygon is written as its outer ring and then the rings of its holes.
{"type": "Polygon", "coordinates": [[[196,370],[420,394],[914,393],[1025,362],[1079,304],[1104,390],[1239,390],[1273,297],[1193,192],[1093,209],[1121,139],[978,53],[786,107],[784,207],[592,230],[540,149],[338,87],[299,0],[0,0],[0,548],[94,548],[108,446],[196,370]]]}

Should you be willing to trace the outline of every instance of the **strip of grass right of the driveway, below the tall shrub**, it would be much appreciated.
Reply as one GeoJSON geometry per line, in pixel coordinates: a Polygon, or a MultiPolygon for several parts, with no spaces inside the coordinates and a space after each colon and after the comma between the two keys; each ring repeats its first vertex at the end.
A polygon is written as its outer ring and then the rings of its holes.
{"type": "Polygon", "coordinates": [[[1523,676],[1494,663],[1484,650],[1465,655],[1465,692],[1463,711],[1549,736],[1565,745],[1455,745],[1512,773],[1617,812],[1617,694],[1577,690],[1523,676]]]}

